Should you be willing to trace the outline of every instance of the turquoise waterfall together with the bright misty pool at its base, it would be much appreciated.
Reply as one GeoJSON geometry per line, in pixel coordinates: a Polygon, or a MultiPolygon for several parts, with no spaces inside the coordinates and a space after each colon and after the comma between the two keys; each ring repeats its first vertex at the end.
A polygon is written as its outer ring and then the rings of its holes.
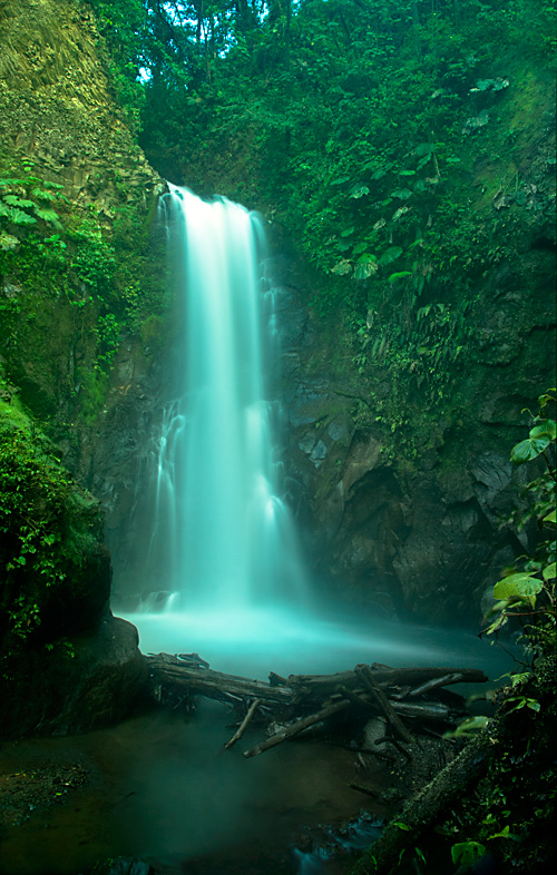
{"type": "MultiPolygon", "coordinates": [[[[129,617],[141,650],[197,649],[221,670],[257,677],[270,667],[287,675],[301,666],[336,671],[365,658],[390,665],[434,658],[439,629],[410,633],[328,606],[323,592],[315,604],[309,593],[293,520],[278,498],[270,385],[280,331],[257,217],[176,186],[162,212],[177,254],[179,341],[174,400],[154,459],[144,587],[173,596],[160,610],[154,593],[129,617]]],[[[441,650],[452,652],[455,633],[447,635],[441,650]]],[[[477,647],[468,636],[460,665],[470,665],[477,647]]]]}

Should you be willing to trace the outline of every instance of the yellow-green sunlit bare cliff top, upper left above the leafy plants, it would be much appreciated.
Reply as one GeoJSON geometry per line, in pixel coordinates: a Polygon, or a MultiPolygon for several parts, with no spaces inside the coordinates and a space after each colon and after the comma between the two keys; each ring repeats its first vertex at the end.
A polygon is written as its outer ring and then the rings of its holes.
{"type": "Polygon", "coordinates": [[[4,151],[32,159],[74,204],[94,201],[105,222],[119,201],[147,204],[160,180],[116,109],[86,4],[7,0],[0,38],[4,151]]]}

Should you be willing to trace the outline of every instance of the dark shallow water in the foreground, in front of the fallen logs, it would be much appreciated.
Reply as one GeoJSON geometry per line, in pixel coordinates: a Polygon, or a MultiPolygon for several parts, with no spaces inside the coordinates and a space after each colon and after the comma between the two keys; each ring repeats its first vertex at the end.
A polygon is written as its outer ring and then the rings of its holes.
{"type": "MultiPolygon", "coordinates": [[[[158,711],[84,736],[6,745],[2,771],[79,761],[90,783],[7,828],[0,872],[77,875],[128,855],[165,873],[294,875],[307,871],[307,851],[296,856],[293,848],[296,834],[306,846],[304,829],[325,840],[320,824],[340,824],[361,808],[375,819],[389,814],[349,788],[356,779],[350,751],[310,740],[246,760],[241,745],[224,750],[233,731],[226,724],[225,706],[202,701],[188,720],[158,711]]],[[[373,778],[378,790],[388,786],[384,771],[373,778]]]]}

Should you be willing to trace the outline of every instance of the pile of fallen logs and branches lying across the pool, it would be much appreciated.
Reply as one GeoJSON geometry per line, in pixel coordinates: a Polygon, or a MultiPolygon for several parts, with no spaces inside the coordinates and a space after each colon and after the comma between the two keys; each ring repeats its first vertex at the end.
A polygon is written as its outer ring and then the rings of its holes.
{"type": "MultiPolygon", "coordinates": [[[[444,689],[453,684],[482,684],[483,671],[467,668],[391,668],[373,662],[335,675],[271,672],[268,684],[214,671],[197,653],[147,657],[156,688],[173,690],[182,698],[207,696],[232,706],[238,728],[226,743],[229,748],[253,721],[267,725],[268,737],[244,750],[245,757],[263,754],[307,729],[325,725],[333,731],[334,718],[360,721],[373,717],[385,724],[384,737],[405,756],[414,735],[437,734],[466,715],[462,696],[444,689]]],[[[372,753],[372,751],[370,751],[372,753]]]]}

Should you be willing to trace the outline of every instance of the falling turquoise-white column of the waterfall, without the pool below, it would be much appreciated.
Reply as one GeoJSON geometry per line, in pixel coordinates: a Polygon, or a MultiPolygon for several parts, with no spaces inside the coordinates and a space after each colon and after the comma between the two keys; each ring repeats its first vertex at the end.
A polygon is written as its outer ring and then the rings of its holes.
{"type": "Polygon", "coordinates": [[[306,581],[268,397],[278,337],[257,216],[169,185],[176,253],[176,397],[159,440],[152,537],[159,579],[179,610],[302,604],[306,581]]]}

